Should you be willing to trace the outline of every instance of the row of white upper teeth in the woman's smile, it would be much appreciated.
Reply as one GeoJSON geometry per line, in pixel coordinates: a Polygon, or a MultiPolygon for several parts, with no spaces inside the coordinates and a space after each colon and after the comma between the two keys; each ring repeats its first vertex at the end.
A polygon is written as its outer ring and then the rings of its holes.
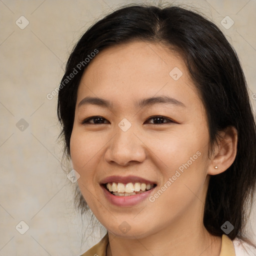
{"type": "Polygon", "coordinates": [[[108,182],[106,184],[107,189],[110,192],[118,192],[118,193],[132,193],[133,191],[138,192],[140,190],[145,191],[151,189],[154,186],[154,184],[145,184],[145,183],[139,183],[135,182],[134,184],[129,183],[116,183],[116,182],[108,182]]]}

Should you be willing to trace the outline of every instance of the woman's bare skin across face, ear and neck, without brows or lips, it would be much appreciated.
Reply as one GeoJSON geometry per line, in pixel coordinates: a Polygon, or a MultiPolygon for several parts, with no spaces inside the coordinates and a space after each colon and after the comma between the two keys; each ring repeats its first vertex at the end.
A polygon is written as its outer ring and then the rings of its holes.
{"type": "Polygon", "coordinates": [[[96,218],[108,230],[107,256],[219,255],[221,237],[203,226],[203,207],[209,175],[226,170],[236,154],[233,127],[208,157],[209,134],[204,107],[186,66],[177,53],[159,43],[136,41],[99,52],[81,78],[75,108],[70,153],[82,195],[96,218]],[[178,67],[176,81],[169,72],[178,67]],[[136,107],[134,102],[167,95],[183,103],[136,107]],[[79,102],[86,96],[109,100],[111,107],[79,102]],[[157,124],[151,116],[161,115],[157,124]],[[102,116],[100,124],[82,123],[102,116]],[[126,118],[127,131],[118,123],[126,118]],[[168,122],[168,119],[174,122],[168,122]],[[130,207],[115,206],[104,197],[100,181],[110,175],[136,175],[157,183],[152,192],[196,152],[200,156],[155,201],[130,207]],[[217,169],[214,166],[217,165],[217,169]],[[130,230],[118,227],[126,221],[130,230]]]}

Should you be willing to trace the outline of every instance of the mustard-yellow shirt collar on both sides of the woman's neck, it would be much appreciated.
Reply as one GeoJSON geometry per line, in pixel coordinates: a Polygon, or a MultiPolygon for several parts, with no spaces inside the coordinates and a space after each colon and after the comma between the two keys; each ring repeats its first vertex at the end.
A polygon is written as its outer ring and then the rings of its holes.
{"type": "MultiPolygon", "coordinates": [[[[80,256],[106,256],[106,247],[108,244],[108,234],[89,250],[80,256]]],[[[221,250],[219,256],[235,256],[232,240],[225,234],[222,234],[221,250]]]]}

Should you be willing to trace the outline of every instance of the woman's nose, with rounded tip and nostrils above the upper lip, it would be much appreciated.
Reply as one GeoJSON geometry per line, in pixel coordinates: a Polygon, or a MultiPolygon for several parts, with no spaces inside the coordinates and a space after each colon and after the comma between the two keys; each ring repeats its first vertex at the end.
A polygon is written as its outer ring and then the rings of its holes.
{"type": "Polygon", "coordinates": [[[142,142],[141,136],[133,132],[132,127],[131,125],[126,131],[117,127],[116,134],[110,140],[105,151],[105,160],[108,163],[126,166],[144,161],[146,146],[142,142]]]}

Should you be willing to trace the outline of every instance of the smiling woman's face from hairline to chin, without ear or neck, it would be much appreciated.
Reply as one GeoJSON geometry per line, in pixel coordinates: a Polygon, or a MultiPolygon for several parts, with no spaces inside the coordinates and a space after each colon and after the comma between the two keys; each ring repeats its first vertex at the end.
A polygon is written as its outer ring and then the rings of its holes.
{"type": "Polygon", "coordinates": [[[144,237],[198,226],[208,149],[204,108],[177,54],[133,42],[91,60],[77,91],[70,152],[81,193],[108,231],[144,237]]]}

